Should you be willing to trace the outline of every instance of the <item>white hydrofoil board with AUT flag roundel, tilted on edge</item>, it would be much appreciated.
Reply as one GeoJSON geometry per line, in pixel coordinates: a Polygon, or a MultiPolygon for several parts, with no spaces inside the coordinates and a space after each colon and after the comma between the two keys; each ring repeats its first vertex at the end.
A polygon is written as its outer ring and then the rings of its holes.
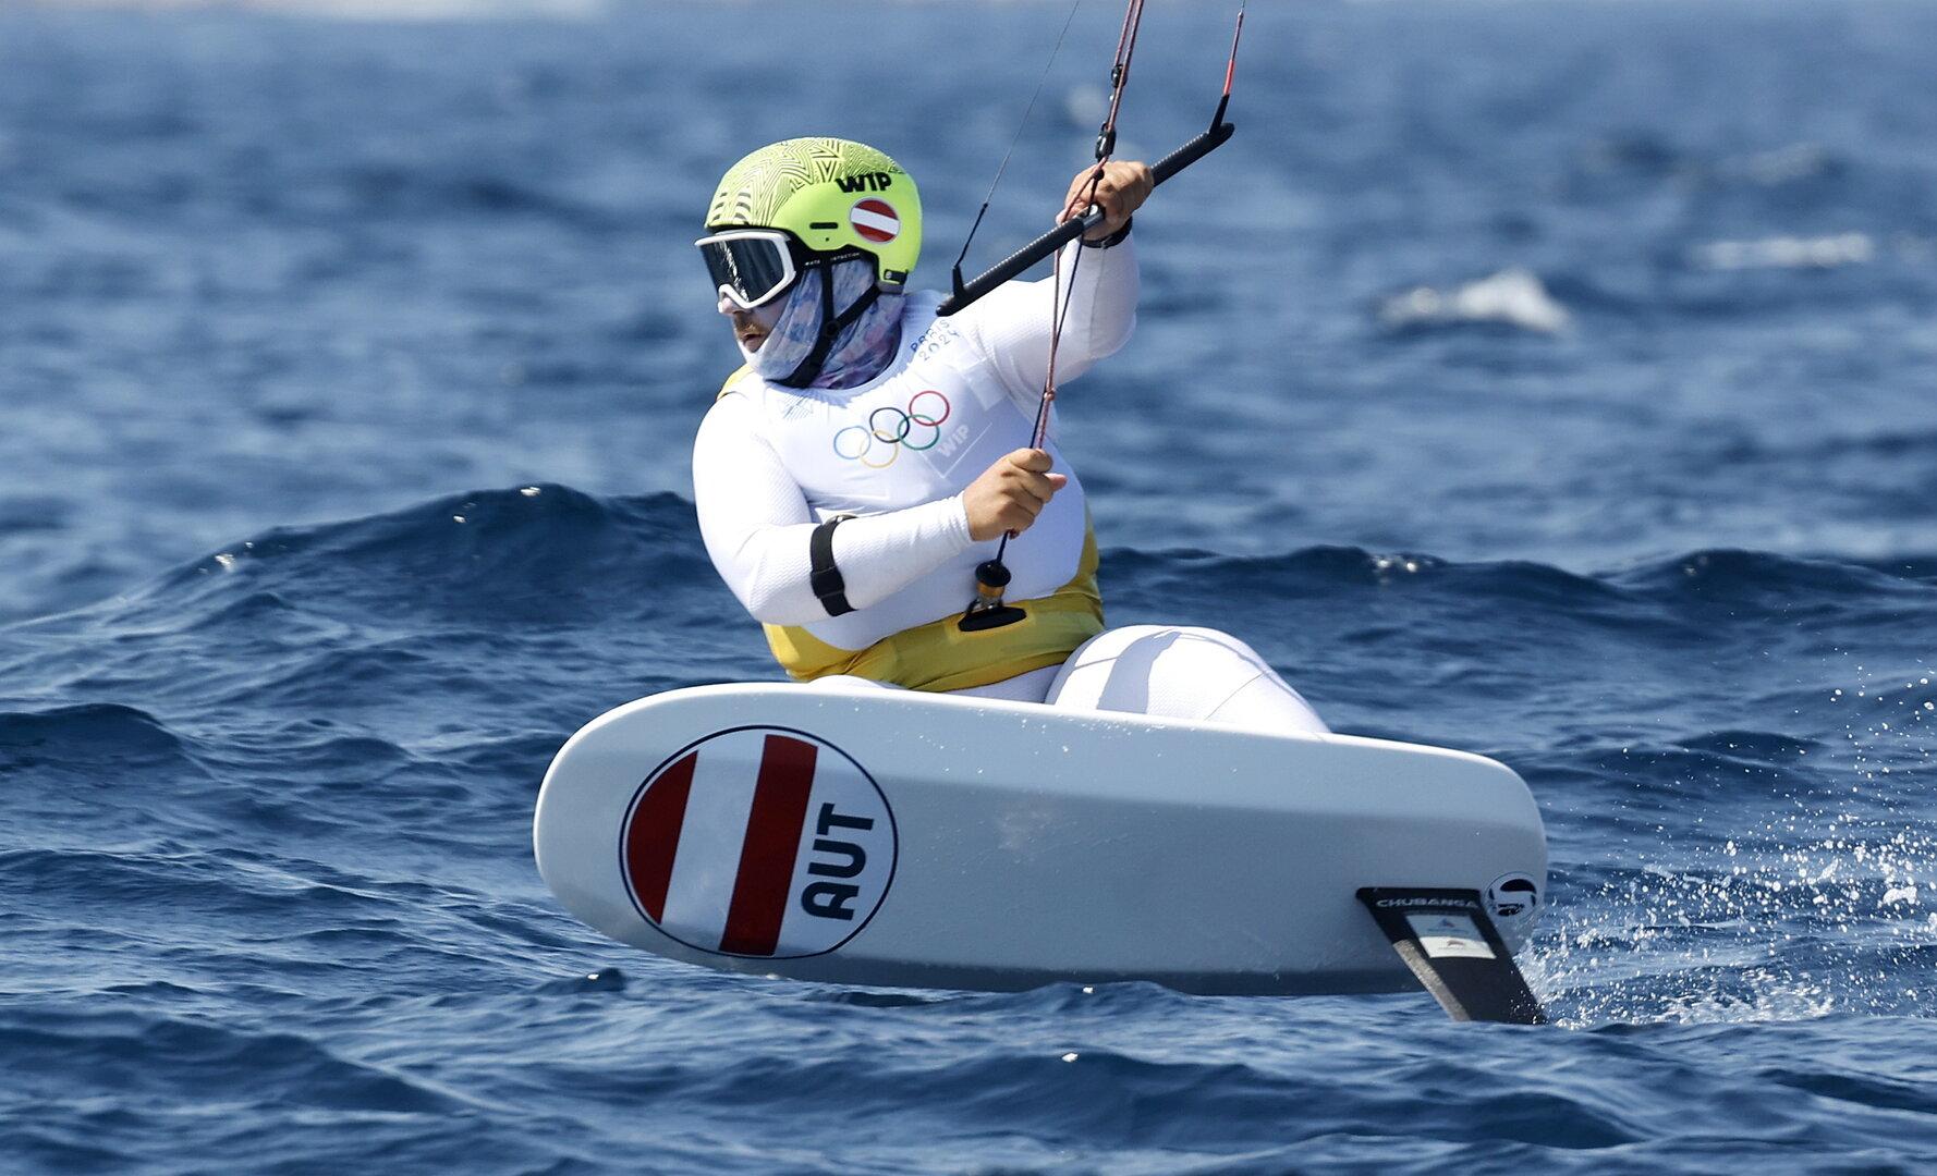
{"type": "Polygon", "coordinates": [[[1416,986],[1362,887],[1486,895],[1546,835],[1501,763],[916,692],[699,686],[558,752],[533,829],[573,914],[688,963],[843,984],[1416,986]]]}

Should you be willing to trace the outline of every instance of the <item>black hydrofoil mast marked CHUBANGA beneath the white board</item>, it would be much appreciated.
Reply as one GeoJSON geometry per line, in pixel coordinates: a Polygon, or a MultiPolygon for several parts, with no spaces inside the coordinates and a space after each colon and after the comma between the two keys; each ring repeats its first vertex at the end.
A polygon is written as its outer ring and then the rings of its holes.
{"type": "Polygon", "coordinates": [[[1455,1021],[1548,1023],[1480,891],[1368,885],[1358,901],[1455,1021]]]}

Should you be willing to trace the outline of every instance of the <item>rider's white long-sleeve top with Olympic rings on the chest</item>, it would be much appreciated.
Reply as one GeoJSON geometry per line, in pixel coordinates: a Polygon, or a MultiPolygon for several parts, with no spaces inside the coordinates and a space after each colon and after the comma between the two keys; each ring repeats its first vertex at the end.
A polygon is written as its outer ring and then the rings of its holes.
{"type": "MultiPolygon", "coordinates": [[[[1063,254],[1067,273],[1079,246],[1063,254]]],[[[1058,384],[1118,351],[1135,327],[1131,242],[1085,248],[1075,265],[1058,384]]],[[[1054,277],[1007,283],[951,318],[939,294],[914,294],[895,358],[845,389],[779,387],[748,372],[715,401],[693,442],[693,500],[713,566],[753,618],[804,626],[837,649],[866,649],[907,628],[959,614],[974,566],[963,488],[1029,446],[1050,358],[1054,277]],[[810,587],[808,539],[831,515],[835,566],[854,612],[829,616],[810,587]]],[[[1054,440],[1069,484],[1003,562],[1009,599],[1056,591],[1087,539],[1083,486],[1054,440]]]]}

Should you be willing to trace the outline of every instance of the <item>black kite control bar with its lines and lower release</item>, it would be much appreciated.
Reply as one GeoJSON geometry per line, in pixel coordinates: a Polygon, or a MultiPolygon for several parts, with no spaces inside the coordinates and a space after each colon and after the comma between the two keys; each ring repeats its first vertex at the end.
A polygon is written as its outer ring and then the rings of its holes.
{"type": "MultiPolygon", "coordinates": [[[[1071,17],[1073,15],[1075,10],[1071,10],[1071,17]]],[[[1063,221],[1056,229],[1050,229],[1048,232],[1029,242],[1027,246],[1019,248],[1017,252],[1009,254],[994,267],[990,267],[986,273],[978,275],[974,281],[968,283],[963,281],[963,267],[961,267],[963,258],[968,256],[968,242],[963,242],[963,252],[961,258],[955,260],[955,271],[953,271],[955,293],[949,294],[938,310],[938,314],[941,316],[955,314],[965,306],[972,304],[976,298],[982,298],[1001,283],[1021,275],[1036,262],[1042,262],[1044,258],[1050,256],[1056,258],[1054,298],[1050,302],[1052,306],[1050,360],[1048,360],[1048,370],[1044,374],[1042,399],[1036,405],[1034,432],[1030,434],[1032,449],[1040,449],[1044,440],[1048,438],[1050,405],[1056,403],[1056,353],[1061,347],[1063,322],[1069,316],[1069,302],[1075,296],[1075,275],[1077,269],[1083,265],[1083,252],[1077,250],[1075,258],[1069,262],[1069,277],[1067,277],[1069,293],[1065,294],[1061,248],[1071,240],[1075,240],[1077,236],[1104,223],[1104,211],[1096,207],[1094,198],[1098,184],[1102,184],[1104,169],[1110,163],[1110,155],[1116,151],[1116,116],[1123,108],[1123,89],[1129,83],[1129,64],[1137,52],[1137,31],[1141,25],[1143,25],[1143,0],[1129,0],[1127,8],[1123,10],[1123,31],[1118,35],[1116,43],[1116,60],[1110,66],[1110,108],[1104,114],[1102,128],[1098,128],[1096,132],[1096,169],[1091,172],[1089,188],[1085,190],[1083,200],[1077,201],[1079,207],[1087,211],[1079,217],[1063,221]]],[[[1067,33],[1067,29],[1069,25],[1065,23],[1063,31],[1067,33]]],[[[1197,163],[1211,151],[1216,151],[1218,147],[1224,145],[1226,139],[1230,139],[1232,134],[1236,134],[1238,128],[1232,126],[1230,122],[1224,122],[1224,112],[1230,107],[1230,87],[1238,76],[1238,43],[1242,39],[1244,39],[1244,0],[1240,0],[1238,4],[1238,29],[1230,39],[1230,62],[1224,66],[1224,95],[1218,99],[1216,112],[1211,116],[1211,128],[1195,136],[1191,141],[1184,143],[1170,155],[1156,161],[1154,167],[1151,167],[1151,176],[1154,180],[1153,188],[1156,184],[1162,184],[1170,176],[1178,174],[1180,170],[1187,169],[1189,165],[1197,163]]],[[[1061,41],[1058,39],[1058,48],[1060,46],[1061,41]]],[[[1036,91],[1040,93],[1040,89],[1042,87],[1038,83],[1036,91]]],[[[1034,99],[1030,99],[1029,105],[1030,108],[1034,108],[1034,99]]],[[[1027,118],[1029,114],[1025,112],[1023,116],[1027,118]]],[[[1015,145],[1011,143],[1009,149],[1013,153],[1015,145]]],[[[998,182],[1001,182],[1001,170],[1007,169],[1007,165],[1009,159],[1005,155],[1001,161],[1001,169],[998,169],[996,172],[998,182]]],[[[992,198],[994,192],[996,188],[992,184],[990,186],[992,198]]],[[[988,211],[988,200],[982,201],[982,213],[986,211],[988,211]]],[[[968,229],[968,240],[974,240],[974,231],[982,227],[982,213],[976,213],[974,225],[968,229]]],[[[1009,568],[1001,562],[1001,558],[1003,554],[1007,554],[1011,539],[1015,539],[1015,531],[1005,531],[1001,542],[996,544],[996,556],[976,566],[974,570],[976,595],[968,603],[968,608],[963,610],[963,616],[957,622],[957,628],[961,628],[963,632],[994,630],[1007,624],[1015,624],[1025,616],[1029,616],[1025,610],[1003,603],[1003,589],[1009,587],[1011,573],[1009,568]]]]}

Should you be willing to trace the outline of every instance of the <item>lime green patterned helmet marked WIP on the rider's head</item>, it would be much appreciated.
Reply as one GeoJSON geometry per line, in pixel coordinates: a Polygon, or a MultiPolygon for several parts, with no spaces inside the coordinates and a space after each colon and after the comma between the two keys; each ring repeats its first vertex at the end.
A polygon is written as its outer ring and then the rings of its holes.
{"type": "Polygon", "coordinates": [[[874,258],[876,283],[907,285],[922,252],[922,198],[885,153],[852,139],[784,139],[726,169],[707,229],[781,229],[833,254],[874,258]]]}

